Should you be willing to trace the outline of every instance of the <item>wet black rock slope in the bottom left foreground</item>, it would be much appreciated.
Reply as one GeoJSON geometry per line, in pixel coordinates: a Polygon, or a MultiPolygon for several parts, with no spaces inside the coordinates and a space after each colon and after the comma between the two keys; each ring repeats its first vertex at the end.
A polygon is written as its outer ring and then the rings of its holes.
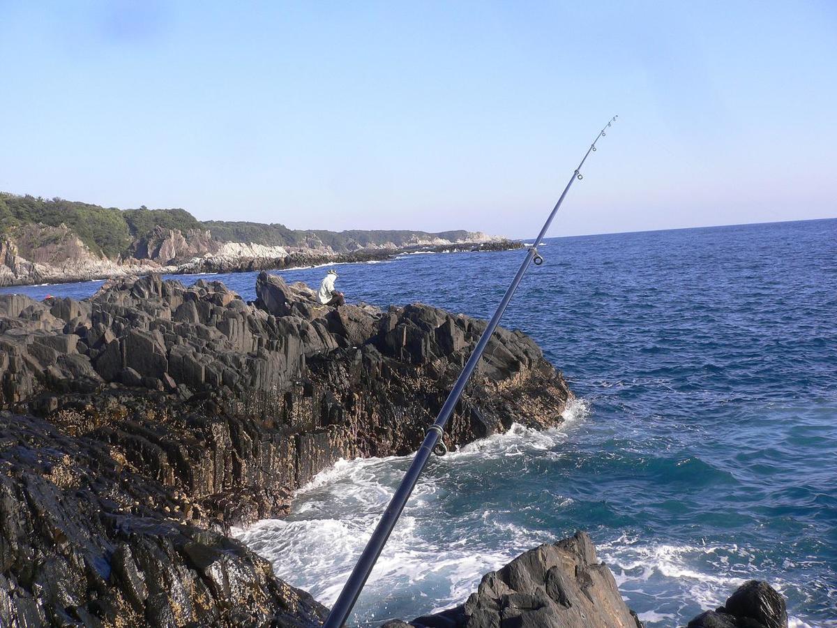
{"type": "Polygon", "coordinates": [[[0,625],[314,626],[324,617],[240,543],[149,507],[161,497],[176,504],[97,441],[22,416],[0,416],[0,434],[0,625]]]}

